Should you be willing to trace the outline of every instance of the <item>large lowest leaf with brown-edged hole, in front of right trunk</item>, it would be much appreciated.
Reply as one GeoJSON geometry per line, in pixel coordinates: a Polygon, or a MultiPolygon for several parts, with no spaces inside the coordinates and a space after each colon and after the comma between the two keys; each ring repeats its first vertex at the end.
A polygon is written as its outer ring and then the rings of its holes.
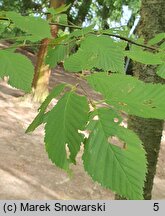
{"type": "Polygon", "coordinates": [[[91,119],[84,168],[102,186],[127,199],[143,199],[147,162],[142,143],[135,133],[114,123],[111,116],[114,116],[112,110],[100,108],[97,120],[91,119]],[[120,143],[111,143],[114,138],[120,143]]]}

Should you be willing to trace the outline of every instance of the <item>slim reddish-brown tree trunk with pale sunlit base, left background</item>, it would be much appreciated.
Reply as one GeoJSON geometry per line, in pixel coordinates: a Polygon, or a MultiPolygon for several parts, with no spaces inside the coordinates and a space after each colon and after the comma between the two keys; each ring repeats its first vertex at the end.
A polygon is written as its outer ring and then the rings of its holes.
{"type": "MultiPolygon", "coordinates": [[[[50,0],[50,7],[58,8],[62,4],[64,4],[64,0],[50,0]]],[[[51,17],[48,17],[51,19],[51,17]]],[[[51,25],[50,27],[52,37],[55,38],[58,33],[58,26],[51,25]]],[[[33,99],[34,101],[42,102],[47,97],[49,78],[51,74],[51,69],[49,65],[45,64],[45,57],[48,51],[48,45],[51,39],[45,38],[41,41],[41,45],[39,47],[38,55],[37,55],[37,63],[35,66],[34,79],[33,79],[33,99]]]]}

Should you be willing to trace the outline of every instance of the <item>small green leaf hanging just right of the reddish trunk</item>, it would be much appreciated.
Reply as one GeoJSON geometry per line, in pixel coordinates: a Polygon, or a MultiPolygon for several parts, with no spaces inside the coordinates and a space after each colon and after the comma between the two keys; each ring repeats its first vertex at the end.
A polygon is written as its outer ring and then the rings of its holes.
{"type": "Polygon", "coordinates": [[[49,48],[46,56],[46,64],[49,64],[50,68],[57,66],[59,62],[67,57],[69,45],[57,45],[55,48],[49,48]]]}

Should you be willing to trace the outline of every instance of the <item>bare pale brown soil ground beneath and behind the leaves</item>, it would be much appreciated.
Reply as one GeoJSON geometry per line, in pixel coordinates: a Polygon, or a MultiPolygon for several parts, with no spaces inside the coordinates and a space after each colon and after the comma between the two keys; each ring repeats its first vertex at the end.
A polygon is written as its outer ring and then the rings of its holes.
{"type": "MultiPolygon", "coordinates": [[[[50,88],[60,82],[76,83],[73,74],[57,68],[50,88]]],[[[87,91],[88,86],[82,82],[87,91]]],[[[82,89],[80,89],[82,91],[82,89]]],[[[90,94],[93,94],[90,92],[90,94]]],[[[81,152],[73,176],[54,166],[44,148],[44,130],[25,134],[39,104],[22,98],[23,93],[0,81],[0,199],[114,199],[85,173],[81,152]]],[[[93,94],[92,97],[96,95],[93,94]]],[[[165,131],[163,131],[153,199],[165,199],[165,131]]]]}

